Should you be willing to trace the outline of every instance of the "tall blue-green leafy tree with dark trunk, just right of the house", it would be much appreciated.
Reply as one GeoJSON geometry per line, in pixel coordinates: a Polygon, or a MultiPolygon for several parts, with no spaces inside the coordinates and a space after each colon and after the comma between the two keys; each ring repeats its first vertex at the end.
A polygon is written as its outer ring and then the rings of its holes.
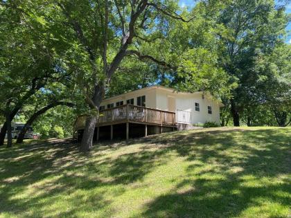
{"type": "Polygon", "coordinates": [[[256,71],[258,57],[270,55],[283,43],[282,35],[288,17],[284,8],[274,1],[231,1],[218,12],[220,66],[237,78],[230,100],[233,124],[239,125],[239,115],[246,107],[261,100],[259,80],[263,71],[256,71]]]}

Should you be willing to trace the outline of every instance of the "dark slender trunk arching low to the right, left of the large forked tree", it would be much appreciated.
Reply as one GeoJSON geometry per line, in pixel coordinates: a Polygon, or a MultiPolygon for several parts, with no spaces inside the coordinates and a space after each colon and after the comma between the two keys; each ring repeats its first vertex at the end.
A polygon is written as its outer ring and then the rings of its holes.
{"type": "Polygon", "coordinates": [[[40,109],[39,111],[37,111],[36,113],[34,113],[33,116],[31,116],[29,118],[29,120],[27,120],[26,124],[21,129],[21,132],[18,135],[18,138],[17,138],[16,143],[22,143],[24,141],[24,136],[26,134],[26,131],[27,131],[28,127],[33,124],[33,122],[36,120],[36,118],[38,118],[42,114],[46,113],[46,111],[48,111],[49,109],[51,109],[53,107],[56,107],[58,105],[64,105],[64,106],[67,106],[67,107],[73,107],[73,106],[75,106],[71,102],[53,102],[50,105],[46,105],[46,107],[43,107],[42,109],[40,109]]]}

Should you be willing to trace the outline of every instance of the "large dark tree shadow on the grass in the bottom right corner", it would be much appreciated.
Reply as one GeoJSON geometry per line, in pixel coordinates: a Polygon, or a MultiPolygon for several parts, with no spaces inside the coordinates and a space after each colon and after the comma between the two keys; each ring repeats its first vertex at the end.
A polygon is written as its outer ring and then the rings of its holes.
{"type": "MultiPolygon", "coordinates": [[[[191,185],[192,189],[171,190],[169,194],[157,197],[148,204],[143,217],[254,217],[265,214],[267,217],[285,217],[277,213],[268,214],[263,201],[279,204],[278,210],[290,206],[290,198],[280,197],[278,192],[290,192],[290,185],[285,183],[262,185],[262,187],[241,187],[242,180],[227,178],[219,181],[197,179],[179,185],[191,185]],[[257,213],[242,215],[248,208],[256,208],[257,213]],[[261,210],[261,211],[260,211],[261,210]]],[[[179,186],[178,185],[178,186],[179,186]]],[[[279,211],[280,212],[280,211],[279,211]]]]}

